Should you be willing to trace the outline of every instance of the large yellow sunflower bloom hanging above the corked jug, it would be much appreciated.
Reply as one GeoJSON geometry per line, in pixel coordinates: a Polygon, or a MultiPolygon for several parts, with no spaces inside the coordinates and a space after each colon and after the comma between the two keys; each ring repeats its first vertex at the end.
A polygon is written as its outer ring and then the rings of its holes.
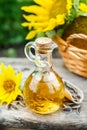
{"type": "Polygon", "coordinates": [[[22,10],[29,13],[23,15],[27,22],[22,26],[29,29],[26,39],[63,25],[72,7],[72,0],[34,0],[34,2],[35,5],[22,7],[22,10]]]}

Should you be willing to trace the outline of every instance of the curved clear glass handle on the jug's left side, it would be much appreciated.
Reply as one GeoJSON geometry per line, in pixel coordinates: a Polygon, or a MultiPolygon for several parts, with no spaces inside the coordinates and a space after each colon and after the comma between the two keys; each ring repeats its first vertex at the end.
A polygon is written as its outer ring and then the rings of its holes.
{"type": "Polygon", "coordinates": [[[32,53],[31,49],[35,50],[35,48],[36,46],[34,42],[29,42],[24,47],[24,52],[25,52],[26,57],[32,62],[35,62],[36,56],[32,53]]]}

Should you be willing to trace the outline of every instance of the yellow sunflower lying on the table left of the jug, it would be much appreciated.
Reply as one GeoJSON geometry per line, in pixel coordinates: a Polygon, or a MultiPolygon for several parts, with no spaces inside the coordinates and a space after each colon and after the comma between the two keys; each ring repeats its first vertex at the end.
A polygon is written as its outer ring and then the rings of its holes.
{"type": "Polygon", "coordinates": [[[22,95],[20,82],[22,73],[16,74],[14,69],[4,63],[0,65],[0,103],[10,104],[18,95],[22,95]]]}

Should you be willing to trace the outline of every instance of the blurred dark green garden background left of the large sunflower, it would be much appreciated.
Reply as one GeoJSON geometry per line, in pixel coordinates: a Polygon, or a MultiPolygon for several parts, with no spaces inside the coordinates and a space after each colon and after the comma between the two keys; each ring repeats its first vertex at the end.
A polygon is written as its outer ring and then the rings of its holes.
{"type": "Polygon", "coordinates": [[[0,57],[24,57],[28,30],[21,26],[21,7],[28,4],[32,0],[0,0],[0,57]]]}

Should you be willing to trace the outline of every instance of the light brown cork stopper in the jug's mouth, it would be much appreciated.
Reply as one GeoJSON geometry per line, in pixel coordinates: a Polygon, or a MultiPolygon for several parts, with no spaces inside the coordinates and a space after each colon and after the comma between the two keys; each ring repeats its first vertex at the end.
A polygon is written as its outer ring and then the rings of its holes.
{"type": "Polygon", "coordinates": [[[52,44],[52,40],[47,37],[40,37],[36,39],[35,43],[37,44],[38,47],[49,48],[52,44]]]}

